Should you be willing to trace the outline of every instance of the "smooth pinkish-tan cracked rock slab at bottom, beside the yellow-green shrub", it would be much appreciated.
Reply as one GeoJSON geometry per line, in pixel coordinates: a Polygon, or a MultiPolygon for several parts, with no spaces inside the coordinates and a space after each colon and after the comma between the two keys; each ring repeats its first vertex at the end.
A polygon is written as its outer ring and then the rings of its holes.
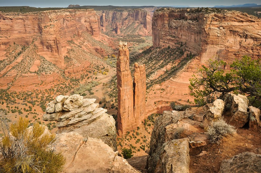
{"type": "Polygon", "coordinates": [[[56,135],[53,145],[66,157],[64,172],[139,172],[99,139],[85,138],[75,132],[61,133],[56,135]]]}

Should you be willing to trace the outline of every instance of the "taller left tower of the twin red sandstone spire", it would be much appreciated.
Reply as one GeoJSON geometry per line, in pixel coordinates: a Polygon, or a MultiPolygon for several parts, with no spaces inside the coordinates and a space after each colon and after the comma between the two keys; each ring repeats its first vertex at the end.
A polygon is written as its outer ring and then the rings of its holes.
{"type": "Polygon", "coordinates": [[[127,43],[119,43],[117,58],[118,88],[118,131],[124,134],[135,126],[133,111],[133,82],[129,70],[129,50],[127,43]]]}

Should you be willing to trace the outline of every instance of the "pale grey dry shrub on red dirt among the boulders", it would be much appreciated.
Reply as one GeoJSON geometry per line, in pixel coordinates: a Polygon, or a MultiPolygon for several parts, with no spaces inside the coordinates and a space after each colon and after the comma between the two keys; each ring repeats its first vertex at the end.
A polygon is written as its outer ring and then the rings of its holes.
{"type": "Polygon", "coordinates": [[[227,124],[224,118],[220,118],[213,122],[211,126],[206,128],[206,131],[210,137],[209,141],[218,144],[224,136],[232,135],[236,132],[235,127],[227,124]]]}

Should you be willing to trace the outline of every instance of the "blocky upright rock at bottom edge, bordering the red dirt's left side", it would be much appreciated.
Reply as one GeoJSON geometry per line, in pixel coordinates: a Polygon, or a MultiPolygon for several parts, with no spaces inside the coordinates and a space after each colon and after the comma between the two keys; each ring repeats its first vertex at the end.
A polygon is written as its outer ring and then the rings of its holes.
{"type": "MultiPolygon", "coordinates": [[[[189,173],[189,140],[187,138],[168,141],[163,145],[155,173],[189,173]]],[[[149,172],[151,172],[149,167],[149,172]]]]}

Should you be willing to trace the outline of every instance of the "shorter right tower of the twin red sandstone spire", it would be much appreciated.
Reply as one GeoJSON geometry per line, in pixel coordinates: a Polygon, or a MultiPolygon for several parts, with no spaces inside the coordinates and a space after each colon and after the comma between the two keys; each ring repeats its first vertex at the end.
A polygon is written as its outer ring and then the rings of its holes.
{"type": "Polygon", "coordinates": [[[145,64],[134,63],[134,117],[136,124],[140,125],[145,118],[145,98],[146,98],[146,73],[145,64]]]}

